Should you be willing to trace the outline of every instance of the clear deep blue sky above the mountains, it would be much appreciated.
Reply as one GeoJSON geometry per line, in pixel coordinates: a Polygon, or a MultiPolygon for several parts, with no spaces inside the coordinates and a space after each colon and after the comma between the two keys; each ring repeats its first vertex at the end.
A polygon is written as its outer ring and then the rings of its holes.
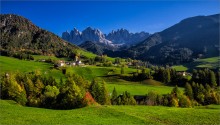
{"type": "Polygon", "coordinates": [[[220,13],[219,0],[196,1],[1,1],[1,13],[18,14],[57,35],[88,26],[159,32],[182,19],[220,13]]]}

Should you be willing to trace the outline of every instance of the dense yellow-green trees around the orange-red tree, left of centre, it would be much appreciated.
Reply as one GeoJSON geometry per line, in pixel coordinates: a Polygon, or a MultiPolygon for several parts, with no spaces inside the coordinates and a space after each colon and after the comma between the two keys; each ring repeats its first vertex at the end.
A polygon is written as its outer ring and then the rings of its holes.
{"type": "MultiPolygon", "coordinates": [[[[111,96],[106,83],[93,80],[91,83],[77,74],[67,74],[60,82],[40,72],[28,74],[5,73],[0,80],[1,99],[11,99],[21,105],[51,109],[73,109],[87,105],[111,105],[111,96]],[[91,95],[91,96],[90,96],[91,95]],[[94,100],[94,101],[91,101],[94,100]]],[[[117,95],[117,94],[116,94],[117,95]]],[[[115,103],[114,103],[115,104],[115,103]]],[[[136,104],[133,96],[124,92],[117,97],[117,104],[136,104]]]]}

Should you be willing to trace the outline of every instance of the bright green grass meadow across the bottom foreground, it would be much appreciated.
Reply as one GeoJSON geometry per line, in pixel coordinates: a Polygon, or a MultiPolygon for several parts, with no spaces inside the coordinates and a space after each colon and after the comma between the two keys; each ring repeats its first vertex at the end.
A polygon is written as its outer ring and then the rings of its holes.
{"type": "Polygon", "coordinates": [[[91,106],[73,110],[23,107],[0,100],[0,124],[220,124],[220,106],[91,106]]]}

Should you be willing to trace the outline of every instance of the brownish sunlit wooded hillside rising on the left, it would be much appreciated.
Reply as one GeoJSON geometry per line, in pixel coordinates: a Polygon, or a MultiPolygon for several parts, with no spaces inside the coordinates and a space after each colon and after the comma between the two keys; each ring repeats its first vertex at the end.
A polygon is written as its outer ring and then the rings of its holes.
{"type": "Polygon", "coordinates": [[[68,57],[79,49],[24,17],[13,14],[1,14],[0,17],[1,55],[22,53],[68,57]]]}

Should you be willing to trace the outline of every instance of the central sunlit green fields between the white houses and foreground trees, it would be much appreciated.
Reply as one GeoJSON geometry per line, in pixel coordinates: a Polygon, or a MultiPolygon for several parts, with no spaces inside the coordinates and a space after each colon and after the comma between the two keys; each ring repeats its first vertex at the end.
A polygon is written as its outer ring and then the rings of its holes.
{"type": "MultiPolygon", "coordinates": [[[[173,87],[164,86],[163,83],[155,80],[145,80],[142,82],[131,82],[119,79],[117,76],[120,74],[120,69],[118,67],[97,67],[97,66],[87,66],[87,67],[71,67],[68,68],[67,72],[76,73],[87,80],[92,80],[96,78],[98,81],[104,80],[107,83],[108,91],[111,93],[114,87],[116,88],[118,94],[124,91],[130,92],[132,95],[146,95],[149,91],[155,91],[159,94],[170,93],[173,87]],[[106,77],[107,75],[113,75],[112,77],[106,77]]],[[[125,68],[125,73],[129,74],[136,72],[137,69],[125,68]]],[[[183,91],[183,88],[180,88],[183,91]]]]}

